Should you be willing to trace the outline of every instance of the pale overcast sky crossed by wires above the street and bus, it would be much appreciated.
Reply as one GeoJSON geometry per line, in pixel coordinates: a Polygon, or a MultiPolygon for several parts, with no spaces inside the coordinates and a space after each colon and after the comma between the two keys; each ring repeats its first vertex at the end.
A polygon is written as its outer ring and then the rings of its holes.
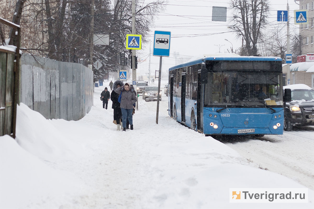
{"type": "MultiPolygon", "coordinates": [[[[174,52],[180,55],[195,56],[200,54],[211,54],[219,52],[228,53],[231,43],[233,49],[241,46],[241,39],[228,32],[229,20],[232,16],[229,0],[169,0],[165,11],[161,12],[151,28],[150,36],[153,48],[154,31],[171,31],[170,57],[163,57],[162,72],[175,65],[174,52]],[[212,21],[212,7],[227,7],[227,22],[212,21]],[[189,15],[189,16],[188,16],[189,15]],[[229,40],[225,41],[225,39],[229,40]]],[[[290,6],[290,16],[293,17],[293,10],[299,9],[293,0],[288,0],[290,6]]],[[[299,2],[297,2],[299,3],[299,2]]],[[[274,26],[286,28],[284,23],[277,22],[277,10],[286,10],[286,0],[270,0],[270,15],[268,28],[274,26]]],[[[290,29],[298,29],[294,25],[293,19],[290,21],[290,29]]],[[[286,30],[284,30],[286,31],[286,30]]],[[[152,49],[151,49],[152,50],[152,49]]],[[[145,75],[149,68],[149,44],[142,45],[142,50],[137,51],[139,58],[147,58],[146,61],[138,64],[137,73],[145,75]]],[[[159,57],[151,56],[151,74],[159,69],[159,57]]]]}

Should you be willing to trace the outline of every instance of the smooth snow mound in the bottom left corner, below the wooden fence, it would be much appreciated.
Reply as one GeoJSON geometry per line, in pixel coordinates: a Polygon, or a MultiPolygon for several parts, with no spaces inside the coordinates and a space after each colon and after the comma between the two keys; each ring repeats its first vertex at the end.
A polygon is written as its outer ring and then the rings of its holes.
{"type": "Polygon", "coordinates": [[[78,195],[82,185],[72,173],[52,169],[8,135],[0,137],[0,165],[0,208],[58,208],[60,201],[78,195]]]}

